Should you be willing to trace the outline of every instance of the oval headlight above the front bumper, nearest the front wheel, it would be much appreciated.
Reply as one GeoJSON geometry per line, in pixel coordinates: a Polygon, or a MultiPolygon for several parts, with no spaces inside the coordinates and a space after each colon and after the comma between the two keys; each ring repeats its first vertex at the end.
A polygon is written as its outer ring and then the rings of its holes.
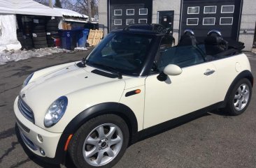
{"type": "Polygon", "coordinates": [[[55,100],[55,102],[52,102],[52,105],[50,105],[45,114],[44,124],[46,128],[55,125],[55,123],[62,119],[62,116],[66,112],[67,105],[68,98],[66,98],[66,96],[62,96],[55,100]]]}

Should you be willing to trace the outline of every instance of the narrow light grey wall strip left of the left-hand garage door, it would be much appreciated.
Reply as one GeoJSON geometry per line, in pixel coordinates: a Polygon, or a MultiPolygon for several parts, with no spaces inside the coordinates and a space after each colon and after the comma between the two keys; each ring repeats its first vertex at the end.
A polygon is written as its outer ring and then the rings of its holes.
{"type": "Polygon", "coordinates": [[[104,24],[104,36],[108,34],[108,0],[99,0],[99,24],[104,24]]]}

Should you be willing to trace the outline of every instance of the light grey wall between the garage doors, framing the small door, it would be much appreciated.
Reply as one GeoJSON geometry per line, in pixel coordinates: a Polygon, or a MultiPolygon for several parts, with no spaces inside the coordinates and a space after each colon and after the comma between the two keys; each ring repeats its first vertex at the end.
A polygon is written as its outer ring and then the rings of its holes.
{"type": "Polygon", "coordinates": [[[180,0],[153,0],[152,23],[157,23],[157,11],[161,10],[174,10],[173,37],[177,44],[180,26],[180,0]]]}

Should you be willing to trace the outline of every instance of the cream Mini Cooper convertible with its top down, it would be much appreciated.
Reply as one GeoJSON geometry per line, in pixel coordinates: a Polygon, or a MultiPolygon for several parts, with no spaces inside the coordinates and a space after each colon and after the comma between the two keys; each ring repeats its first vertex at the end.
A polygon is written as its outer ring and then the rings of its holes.
{"type": "Polygon", "coordinates": [[[24,147],[48,162],[113,167],[127,146],[187,116],[242,114],[253,86],[243,43],[219,31],[173,40],[161,26],[127,26],[82,61],[29,75],[14,102],[24,147]]]}

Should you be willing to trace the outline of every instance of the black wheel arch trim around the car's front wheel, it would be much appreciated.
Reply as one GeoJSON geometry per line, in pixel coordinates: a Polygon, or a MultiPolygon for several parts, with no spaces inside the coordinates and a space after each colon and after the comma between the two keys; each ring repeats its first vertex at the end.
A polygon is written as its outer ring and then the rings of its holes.
{"type": "Polygon", "coordinates": [[[136,139],[138,132],[138,122],[134,112],[127,107],[118,102],[104,102],[98,105],[94,105],[85,109],[83,112],[80,112],[75,118],[73,118],[62,133],[62,136],[59,139],[59,144],[55,153],[55,162],[63,163],[66,160],[66,151],[64,151],[64,146],[66,140],[69,138],[69,135],[73,135],[81,125],[90,119],[101,116],[104,114],[115,114],[122,117],[127,123],[129,128],[129,144],[132,144],[136,139]]]}

